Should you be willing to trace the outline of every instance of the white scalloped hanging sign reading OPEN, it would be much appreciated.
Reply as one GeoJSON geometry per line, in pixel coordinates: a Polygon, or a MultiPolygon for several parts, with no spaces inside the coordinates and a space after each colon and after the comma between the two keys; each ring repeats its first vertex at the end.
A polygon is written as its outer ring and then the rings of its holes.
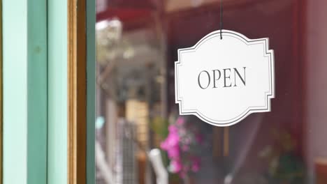
{"type": "Polygon", "coordinates": [[[254,112],[270,112],[275,69],[268,38],[252,40],[228,30],[221,36],[214,31],[193,47],[178,49],[175,102],[180,114],[229,126],[254,112]]]}

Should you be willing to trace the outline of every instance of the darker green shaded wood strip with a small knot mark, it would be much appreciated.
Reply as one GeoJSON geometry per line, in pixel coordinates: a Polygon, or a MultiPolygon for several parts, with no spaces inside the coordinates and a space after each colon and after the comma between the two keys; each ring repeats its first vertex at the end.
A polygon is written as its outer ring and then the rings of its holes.
{"type": "Polygon", "coordinates": [[[47,182],[47,5],[27,1],[27,183],[47,182]]]}

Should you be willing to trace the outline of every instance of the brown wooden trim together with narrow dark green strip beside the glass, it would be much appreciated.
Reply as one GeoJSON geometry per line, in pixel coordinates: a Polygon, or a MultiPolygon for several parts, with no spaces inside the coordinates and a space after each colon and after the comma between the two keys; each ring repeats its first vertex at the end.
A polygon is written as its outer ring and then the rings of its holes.
{"type": "Polygon", "coordinates": [[[67,4],[67,183],[95,183],[95,1],[67,4]]]}

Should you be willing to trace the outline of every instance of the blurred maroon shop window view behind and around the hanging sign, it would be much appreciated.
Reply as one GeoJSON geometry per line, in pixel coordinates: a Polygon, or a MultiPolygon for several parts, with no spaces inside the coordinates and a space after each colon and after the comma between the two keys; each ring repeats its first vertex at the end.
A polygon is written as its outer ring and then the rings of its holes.
{"type": "Polygon", "coordinates": [[[275,50],[272,111],[229,128],[175,105],[177,49],[219,29],[220,1],[96,0],[98,184],[327,183],[327,1],[223,2],[224,29],[275,50]]]}

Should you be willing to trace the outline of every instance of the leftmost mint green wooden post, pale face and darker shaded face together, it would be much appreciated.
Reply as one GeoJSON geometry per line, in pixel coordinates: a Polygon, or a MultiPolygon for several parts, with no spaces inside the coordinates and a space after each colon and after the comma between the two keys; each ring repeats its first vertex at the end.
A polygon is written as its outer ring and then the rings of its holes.
{"type": "Polygon", "coordinates": [[[46,183],[47,25],[42,0],[3,0],[3,183],[46,183]]]}

